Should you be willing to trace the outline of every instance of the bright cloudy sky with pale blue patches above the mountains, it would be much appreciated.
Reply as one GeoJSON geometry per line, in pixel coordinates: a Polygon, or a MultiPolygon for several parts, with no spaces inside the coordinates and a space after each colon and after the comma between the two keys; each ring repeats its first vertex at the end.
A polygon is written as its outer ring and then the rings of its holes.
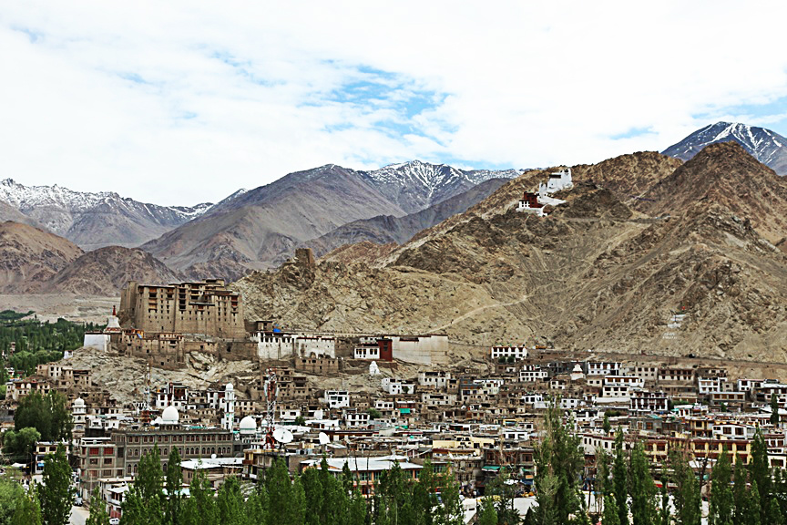
{"type": "Polygon", "coordinates": [[[219,201],[296,170],[505,169],[787,134],[784,2],[6,2],[0,178],[219,201]]]}

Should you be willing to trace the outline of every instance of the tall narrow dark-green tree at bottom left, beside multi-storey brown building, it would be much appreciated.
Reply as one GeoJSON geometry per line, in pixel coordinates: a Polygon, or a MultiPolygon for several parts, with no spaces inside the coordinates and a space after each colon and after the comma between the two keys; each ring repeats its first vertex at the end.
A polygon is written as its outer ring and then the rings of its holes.
{"type": "Polygon", "coordinates": [[[41,514],[46,525],[66,525],[71,516],[75,492],[71,487],[71,467],[66,448],[58,445],[54,454],[44,458],[44,475],[38,489],[41,514]]]}

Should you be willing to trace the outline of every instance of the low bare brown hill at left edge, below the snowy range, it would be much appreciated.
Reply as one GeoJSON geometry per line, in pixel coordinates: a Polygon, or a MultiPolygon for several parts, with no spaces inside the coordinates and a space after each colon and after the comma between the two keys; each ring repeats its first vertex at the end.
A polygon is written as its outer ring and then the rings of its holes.
{"type": "Polygon", "coordinates": [[[77,245],[54,233],[14,221],[0,223],[0,292],[44,291],[81,254],[77,245]]]}

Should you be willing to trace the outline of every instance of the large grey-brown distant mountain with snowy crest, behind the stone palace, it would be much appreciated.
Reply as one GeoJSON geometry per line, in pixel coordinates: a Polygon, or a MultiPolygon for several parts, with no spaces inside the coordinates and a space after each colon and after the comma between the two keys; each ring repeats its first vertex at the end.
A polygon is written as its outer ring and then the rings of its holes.
{"type": "Polygon", "coordinates": [[[296,247],[310,241],[322,253],[344,242],[383,242],[389,235],[391,240],[409,238],[420,227],[431,225],[427,224],[430,221],[434,224],[446,213],[463,205],[466,208],[474,195],[476,200],[480,198],[490,186],[466,192],[496,174],[510,177],[516,171],[463,171],[419,161],[375,171],[331,164],[233,194],[199,219],[142,248],[189,278],[222,276],[234,280],[252,269],[277,266],[296,247]],[[464,198],[459,197],[465,193],[464,198]],[[457,199],[434,211],[398,221],[453,197],[457,199]]]}

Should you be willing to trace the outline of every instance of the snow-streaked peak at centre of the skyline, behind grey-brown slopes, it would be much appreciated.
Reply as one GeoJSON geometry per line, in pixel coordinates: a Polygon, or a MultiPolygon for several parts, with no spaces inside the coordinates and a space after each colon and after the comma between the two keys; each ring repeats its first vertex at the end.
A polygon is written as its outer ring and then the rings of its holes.
{"type": "Polygon", "coordinates": [[[364,179],[404,211],[414,213],[490,179],[513,179],[522,170],[459,170],[445,164],[411,160],[362,172],[364,179]]]}

